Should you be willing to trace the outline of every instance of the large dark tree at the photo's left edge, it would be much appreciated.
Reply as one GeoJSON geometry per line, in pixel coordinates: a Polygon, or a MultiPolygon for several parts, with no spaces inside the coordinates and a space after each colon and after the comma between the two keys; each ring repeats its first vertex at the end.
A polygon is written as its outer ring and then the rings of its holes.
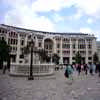
{"type": "Polygon", "coordinates": [[[7,67],[10,68],[10,46],[5,40],[0,40],[0,66],[3,67],[3,62],[7,62],[7,67]]]}

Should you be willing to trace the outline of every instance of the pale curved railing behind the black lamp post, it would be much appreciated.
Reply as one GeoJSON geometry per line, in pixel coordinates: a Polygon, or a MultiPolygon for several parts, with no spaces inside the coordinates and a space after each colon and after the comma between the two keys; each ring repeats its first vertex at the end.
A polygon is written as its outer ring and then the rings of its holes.
{"type": "MultiPolygon", "coordinates": [[[[33,75],[44,75],[53,72],[55,68],[54,64],[34,64],[33,75]]],[[[29,75],[30,66],[24,64],[12,64],[10,68],[11,74],[16,75],[29,75]]]]}

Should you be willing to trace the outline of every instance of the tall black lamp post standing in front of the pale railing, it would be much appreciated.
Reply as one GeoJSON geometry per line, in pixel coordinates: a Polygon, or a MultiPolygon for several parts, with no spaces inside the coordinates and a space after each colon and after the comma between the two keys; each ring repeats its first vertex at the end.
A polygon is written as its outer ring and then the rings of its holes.
{"type": "Polygon", "coordinates": [[[33,40],[31,40],[30,42],[30,45],[31,45],[31,56],[30,56],[30,70],[29,70],[29,77],[28,77],[28,80],[34,80],[34,77],[33,77],[33,47],[34,47],[34,42],[33,40]]]}

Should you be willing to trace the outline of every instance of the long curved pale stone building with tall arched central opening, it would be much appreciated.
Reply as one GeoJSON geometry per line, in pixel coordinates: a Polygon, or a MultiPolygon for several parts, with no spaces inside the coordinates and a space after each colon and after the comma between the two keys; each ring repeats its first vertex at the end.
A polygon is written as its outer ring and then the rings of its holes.
{"type": "MultiPolygon", "coordinates": [[[[24,29],[9,25],[0,25],[0,39],[10,45],[11,63],[27,64],[30,57],[22,55],[24,47],[33,39],[35,48],[45,49],[51,57],[54,53],[60,57],[60,64],[75,62],[75,54],[79,51],[82,63],[93,62],[93,54],[97,52],[96,37],[86,33],[60,33],[24,29]],[[31,34],[31,36],[30,36],[31,34]]],[[[38,54],[34,54],[34,64],[40,63],[38,54]]]]}

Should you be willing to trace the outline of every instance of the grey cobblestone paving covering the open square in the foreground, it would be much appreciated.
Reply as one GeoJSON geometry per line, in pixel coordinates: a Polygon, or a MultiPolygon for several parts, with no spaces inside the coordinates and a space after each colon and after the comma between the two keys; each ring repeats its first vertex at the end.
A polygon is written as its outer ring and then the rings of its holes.
{"type": "Polygon", "coordinates": [[[58,71],[29,81],[0,71],[0,100],[100,100],[100,79],[97,75],[76,75],[71,82],[65,79],[64,71],[58,71]]]}

